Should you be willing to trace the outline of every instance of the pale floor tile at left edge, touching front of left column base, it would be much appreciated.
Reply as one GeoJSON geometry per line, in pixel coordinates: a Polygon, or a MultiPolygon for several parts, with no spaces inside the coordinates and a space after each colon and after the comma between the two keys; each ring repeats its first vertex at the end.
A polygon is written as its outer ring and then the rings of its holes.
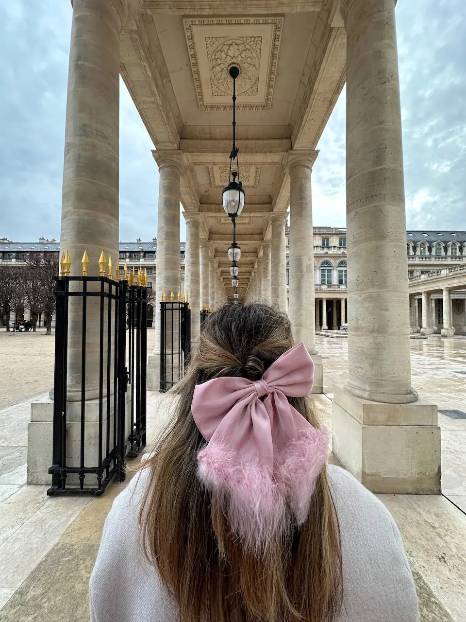
{"type": "Polygon", "coordinates": [[[46,502],[47,486],[23,486],[0,503],[0,544],[46,502]]]}

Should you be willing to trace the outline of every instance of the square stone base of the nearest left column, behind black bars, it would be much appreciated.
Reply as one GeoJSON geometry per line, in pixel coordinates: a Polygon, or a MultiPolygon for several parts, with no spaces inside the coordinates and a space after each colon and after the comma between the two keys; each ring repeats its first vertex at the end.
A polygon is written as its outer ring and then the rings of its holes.
{"type": "MultiPolygon", "coordinates": [[[[110,439],[113,438],[113,396],[110,401],[110,439]]],[[[126,393],[125,405],[125,439],[132,432],[131,425],[131,388],[126,393]]],[[[103,455],[106,453],[107,429],[107,397],[103,399],[103,455]]],[[[111,442],[112,445],[112,442],[111,442]]],[[[27,483],[40,486],[51,486],[52,475],[48,468],[52,466],[53,446],[53,399],[32,402],[30,406],[30,422],[27,425],[27,483]]],[[[66,466],[80,466],[81,446],[81,402],[68,402],[66,407],[66,466]]],[[[129,447],[129,442],[128,442],[129,447]]],[[[86,401],[85,431],[85,466],[96,466],[99,453],[99,401],[86,401]]],[[[70,485],[78,485],[77,474],[66,477],[70,485]]],[[[89,474],[85,478],[86,485],[97,485],[97,477],[89,474]]]]}

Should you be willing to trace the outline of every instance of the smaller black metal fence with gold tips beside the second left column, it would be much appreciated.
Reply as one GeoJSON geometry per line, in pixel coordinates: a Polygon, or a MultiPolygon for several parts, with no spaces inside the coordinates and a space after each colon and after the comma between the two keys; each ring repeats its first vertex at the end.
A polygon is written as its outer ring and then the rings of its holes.
{"type": "Polygon", "coordinates": [[[160,303],[160,392],[183,378],[191,352],[191,310],[187,302],[160,303]]]}

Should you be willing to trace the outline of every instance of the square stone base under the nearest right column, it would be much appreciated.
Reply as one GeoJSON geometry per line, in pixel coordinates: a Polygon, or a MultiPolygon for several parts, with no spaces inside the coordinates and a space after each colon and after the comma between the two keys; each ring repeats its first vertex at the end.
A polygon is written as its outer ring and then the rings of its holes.
{"type": "Polygon", "coordinates": [[[332,452],[373,493],[441,494],[437,406],[385,404],[335,386],[332,452]]]}

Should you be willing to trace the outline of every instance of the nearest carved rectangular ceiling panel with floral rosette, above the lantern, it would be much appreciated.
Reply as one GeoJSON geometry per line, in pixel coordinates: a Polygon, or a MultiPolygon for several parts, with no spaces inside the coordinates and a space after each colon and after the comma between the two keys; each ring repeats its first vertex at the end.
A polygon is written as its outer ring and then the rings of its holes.
{"type": "Polygon", "coordinates": [[[237,109],[270,110],[283,17],[183,19],[201,110],[231,110],[237,65],[237,109]]]}

